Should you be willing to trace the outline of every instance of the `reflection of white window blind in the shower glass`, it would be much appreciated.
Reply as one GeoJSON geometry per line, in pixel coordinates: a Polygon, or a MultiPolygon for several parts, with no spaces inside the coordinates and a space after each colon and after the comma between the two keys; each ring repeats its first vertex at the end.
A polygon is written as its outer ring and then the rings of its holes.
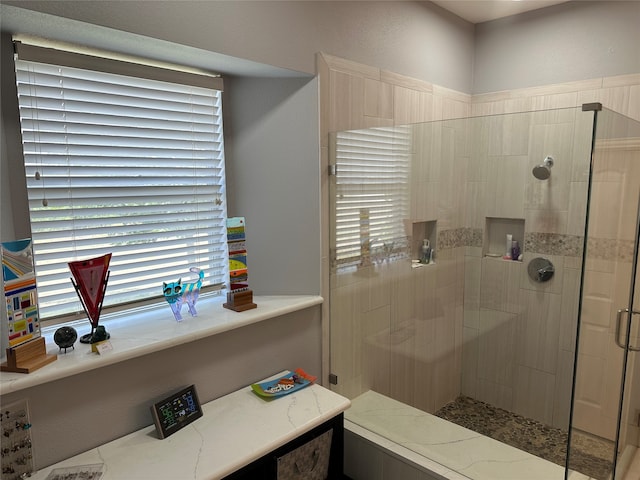
{"type": "Polygon", "coordinates": [[[334,266],[406,256],[408,126],[336,135],[334,266]]]}

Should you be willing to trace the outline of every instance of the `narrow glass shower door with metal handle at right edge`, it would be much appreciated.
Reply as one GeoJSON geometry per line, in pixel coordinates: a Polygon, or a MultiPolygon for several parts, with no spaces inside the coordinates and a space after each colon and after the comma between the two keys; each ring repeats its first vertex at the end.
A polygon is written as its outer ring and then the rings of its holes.
{"type": "Polygon", "coordinates": [[[595,130],[568,467],[601,463],[594,478],[623,480],[637,478],[626,473],[640,420],[640,122],[586,114],[595,130]],[[585,458],[580,446],[594,439],[608,446],[585,458]]]}

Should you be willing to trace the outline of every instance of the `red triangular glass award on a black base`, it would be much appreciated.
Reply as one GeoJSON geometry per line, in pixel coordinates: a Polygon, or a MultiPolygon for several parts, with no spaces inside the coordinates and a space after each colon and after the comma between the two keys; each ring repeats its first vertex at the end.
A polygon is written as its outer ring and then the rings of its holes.
{"type": "MultiPolygon", "coordinates": [[[[69,262],[69,270],[71,270],[71,283],[76,289],[82,308],[84,308],[89,321],[91,322],[91,333],[80,337],[81,343],[94,343],[94,334],[98,329],[100,313],[102,312],[102,301],[107,290],[107,282],[109,281],[109,262],[111,254],[107,253],[101,257],[91,258],[89,260],[79,260],[77,262],[69,262]]],[[[104,328],[98,330],[101,338],[95,339],[106,340],[109,334],[104,328]],[[106,338],[102,338],[105,337],[106,338]]]]}

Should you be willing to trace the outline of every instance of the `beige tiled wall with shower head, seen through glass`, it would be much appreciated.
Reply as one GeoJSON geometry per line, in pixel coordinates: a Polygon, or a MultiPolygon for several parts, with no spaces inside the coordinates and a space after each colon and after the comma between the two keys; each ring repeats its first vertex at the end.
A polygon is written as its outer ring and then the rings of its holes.
{"type": "Polygon", "coordinates": [[[565,428],[592,120],[575,108],[474,118],[467,169],[468,225],[521,219],[524,253],[505,261],[467,248],[461,391],[565,428]],[[532,168],[547,155],[551,177],[538,180],[532,168]],[[537,257],[555,267],[548,282],[528,275],[537,257]]]}

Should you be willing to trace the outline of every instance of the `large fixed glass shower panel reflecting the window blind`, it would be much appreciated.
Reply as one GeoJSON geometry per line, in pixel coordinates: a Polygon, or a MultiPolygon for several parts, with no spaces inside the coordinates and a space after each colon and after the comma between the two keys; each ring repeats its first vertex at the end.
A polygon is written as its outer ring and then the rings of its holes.
{"type": "Polygon", "coordinates": [[[330,369],[348,421],[469,478],[565,478],[593,126],[568,108],[330,135],[330,369]]]}

